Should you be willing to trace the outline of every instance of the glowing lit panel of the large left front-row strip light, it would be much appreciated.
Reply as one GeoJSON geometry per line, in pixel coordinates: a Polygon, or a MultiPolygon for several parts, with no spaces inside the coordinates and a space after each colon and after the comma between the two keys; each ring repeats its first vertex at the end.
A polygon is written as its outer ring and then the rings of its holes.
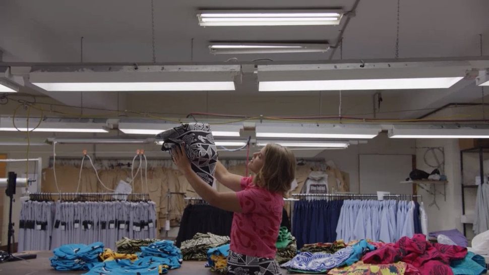
{"type": "Polygon", "coordinates": [[[234,82],[32,83],[46,91],[234,91],[234,82]]]}

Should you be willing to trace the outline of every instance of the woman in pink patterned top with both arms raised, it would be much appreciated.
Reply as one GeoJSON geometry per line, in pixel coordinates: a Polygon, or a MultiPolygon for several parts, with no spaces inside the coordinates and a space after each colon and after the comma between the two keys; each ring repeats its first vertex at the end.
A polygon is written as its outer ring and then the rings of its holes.
{"type": "MultiPolygon", "coordinates": [[[[184,144],[185,145],[185,144],[184,144]]],[[[248,167],[256,177],[229,173],[217,162],[216,179],[234,192],[219,193],[191,169],[185,146],[176,146],[173,161],[194,190],[210,205],[233,211],[228,274],[281,274],[275,261],[283,196],[295,178],[292,151],[268,144],[253,154],[248,167]]]]}

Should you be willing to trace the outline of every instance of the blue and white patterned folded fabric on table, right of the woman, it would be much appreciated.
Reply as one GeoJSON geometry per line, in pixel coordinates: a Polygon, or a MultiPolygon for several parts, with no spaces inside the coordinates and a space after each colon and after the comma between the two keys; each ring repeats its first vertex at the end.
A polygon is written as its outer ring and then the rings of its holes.
{"type": "Polygon", "coordinates": [[[282,264],[281,267],[296,272],[327,272],[343,265],[353,252],[354,249],[351,246],[338,250],[334,254],[300,252],[293,259],[282,264]]]}

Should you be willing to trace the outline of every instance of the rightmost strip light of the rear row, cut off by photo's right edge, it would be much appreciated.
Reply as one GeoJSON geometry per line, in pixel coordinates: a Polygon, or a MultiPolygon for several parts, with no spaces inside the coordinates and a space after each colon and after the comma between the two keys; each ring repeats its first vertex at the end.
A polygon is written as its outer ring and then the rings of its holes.
{"type": "Polygon", "coordinates": [[[489,128],[442,128],[394,126],[389,130],[390,138],[489,138],[489,128]]]}

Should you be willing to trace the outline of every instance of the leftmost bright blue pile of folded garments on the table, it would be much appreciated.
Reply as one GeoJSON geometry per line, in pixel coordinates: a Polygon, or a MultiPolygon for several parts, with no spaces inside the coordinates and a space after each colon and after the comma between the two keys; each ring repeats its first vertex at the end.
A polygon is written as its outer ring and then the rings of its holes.
{"type": "Polygon", "coordinates": [[[49,260],[54,269],[88,270],[99,262],[98,255],[103,252],[103,243],[62,245],[52,252],[54,257],[49,260]]]}

